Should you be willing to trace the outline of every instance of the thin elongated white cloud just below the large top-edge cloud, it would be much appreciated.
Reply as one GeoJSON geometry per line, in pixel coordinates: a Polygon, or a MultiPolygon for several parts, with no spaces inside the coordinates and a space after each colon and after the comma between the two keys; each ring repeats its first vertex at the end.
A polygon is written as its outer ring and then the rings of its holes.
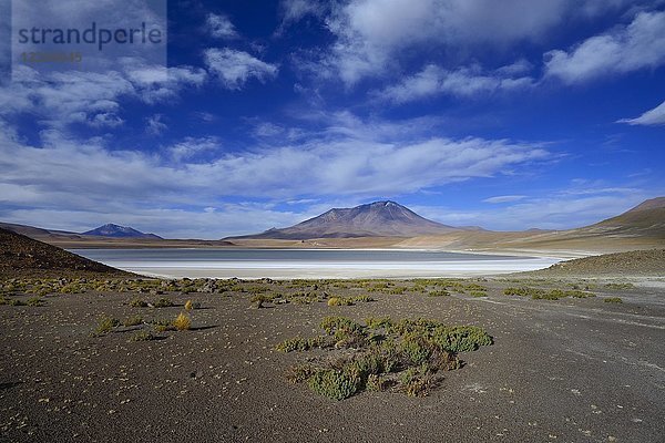
{"type": "Polygon", "coordinates": [[[477,66],[450,71],[430,64],[417,74],[405,78],[400,83],[388,86],[376,95],[396,103],[405,103],[439,94],[471,96],[514,91],[533,85],[533,79],[529,76],[505,75],[515,72],[516,69],[516,66],[510,65],[502,70],[483,73],[477,66]]]}

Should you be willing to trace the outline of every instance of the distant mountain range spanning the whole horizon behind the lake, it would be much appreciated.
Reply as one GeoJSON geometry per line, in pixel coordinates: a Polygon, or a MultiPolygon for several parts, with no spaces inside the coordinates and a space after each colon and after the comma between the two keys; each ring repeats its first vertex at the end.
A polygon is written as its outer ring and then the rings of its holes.
{"type": "Polygon", "coordinates": [[[444,250],[560,250],[612,253],[665,247],[665,197],[591,226],[566,230],[492,231],[429,220],[396,202],[330,209],[286,228],[223,240],[162,239],[130,227],[104,225],[83,234],[0,223],[6,228],[65,248],[85,247],[391,247],[444,250]],[[233,240],[233,241],[228,241],[233,240]]]}

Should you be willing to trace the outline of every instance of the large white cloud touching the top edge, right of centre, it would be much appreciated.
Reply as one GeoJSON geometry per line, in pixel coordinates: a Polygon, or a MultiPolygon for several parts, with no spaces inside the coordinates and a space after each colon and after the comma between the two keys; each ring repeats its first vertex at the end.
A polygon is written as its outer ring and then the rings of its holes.
{"type": "MultiPolygon", "coordinates": [[[[405,50],[505,48],[538,40],[570,17],[595,16],[623,0],[351,0],[326,24],[336,42],[320,62],[347,84],[381,75],[405,50]]],[[[325,72],[326,73],[326,72],[325,72]]]]}

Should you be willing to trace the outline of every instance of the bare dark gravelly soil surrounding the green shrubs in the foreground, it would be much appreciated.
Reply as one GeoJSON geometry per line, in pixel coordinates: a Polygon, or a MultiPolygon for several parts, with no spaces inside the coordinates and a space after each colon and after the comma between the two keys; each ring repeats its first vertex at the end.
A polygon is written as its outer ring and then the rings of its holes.
{"type": "MultiPolygon", "coordinates": [[[[182,306],[132,308],[135,293],[99,292],[0,306],[0,440],[663,441],[663,288],[601,284],[595,298],[546,301],[501,293],[516,281],[480,284],[488,298],[372,292],[377,301],[350,307],[249,309],[247,293],[171,293],[180,303],[202,302],[195,329],[147,342],[127,342],[135,327],[91,332],[102,315],[173,318],[182,306]],[[603,302],[616,296],[624,302],[603,302]],[[477,324],[494,344],[461,354],[466,365],[427,398],[366,392],[334,402],[287,383],[284,371],[305,356],[274,350],[315,333],[329,315],[477,324]]],[[[262,285],[283,290],[288,282],[262,285]]]]}

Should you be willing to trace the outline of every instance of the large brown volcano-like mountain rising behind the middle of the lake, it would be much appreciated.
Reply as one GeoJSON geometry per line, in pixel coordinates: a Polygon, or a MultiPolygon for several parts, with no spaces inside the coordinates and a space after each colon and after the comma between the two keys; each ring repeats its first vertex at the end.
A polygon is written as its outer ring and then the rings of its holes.
{"type": "Polygon", "coordinates": [[[335,208],[287,228],[272,228],[262,234],[231,239],[415,237],[460,230],[428,220],[395,202],[375,202],[352,208],[335,208]]]}

